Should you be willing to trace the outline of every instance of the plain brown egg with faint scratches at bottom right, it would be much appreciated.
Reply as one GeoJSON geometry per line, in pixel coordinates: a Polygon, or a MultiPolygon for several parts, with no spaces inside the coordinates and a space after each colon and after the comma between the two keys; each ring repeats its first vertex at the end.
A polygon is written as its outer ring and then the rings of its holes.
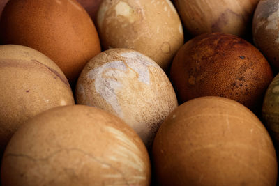
{"type": "Polygon", "coordinates": [[[220,97],[190,100],[170,114],[153,144],[160,185],[276,185],[269,133],[243,105],[220,97]]]}

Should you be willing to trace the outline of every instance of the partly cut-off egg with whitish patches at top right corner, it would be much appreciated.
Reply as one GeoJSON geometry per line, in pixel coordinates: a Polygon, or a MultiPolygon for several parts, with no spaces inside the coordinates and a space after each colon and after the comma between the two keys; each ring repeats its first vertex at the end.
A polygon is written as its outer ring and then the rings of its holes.
{"type": "Polygon", "coordinates": [[[255,10],[252,33],[269,63],[279,70],[279,3],[275,0],[259,1],[255,10]]]}

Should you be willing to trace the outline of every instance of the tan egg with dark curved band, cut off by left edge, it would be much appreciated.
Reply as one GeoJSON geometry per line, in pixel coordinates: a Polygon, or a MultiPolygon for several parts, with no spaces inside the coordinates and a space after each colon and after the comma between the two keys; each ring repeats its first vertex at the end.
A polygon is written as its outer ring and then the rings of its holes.
{"type": "Polygon", "coordinates": [[[44,54],[20,45],[0,46],[0,156],[27,119],[41,111],[75,104],[60,68],[44,54]]]}

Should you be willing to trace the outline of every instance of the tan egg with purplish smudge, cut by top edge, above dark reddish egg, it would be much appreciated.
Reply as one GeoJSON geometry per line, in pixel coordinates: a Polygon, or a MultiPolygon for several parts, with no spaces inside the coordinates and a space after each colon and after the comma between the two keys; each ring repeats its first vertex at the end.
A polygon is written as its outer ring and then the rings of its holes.
{"type": "Polygon", "coordinates": [[[252,16],[259,0],[174,0],[186,30],[202,33],[231,33],[250,36],[252,16]]]}

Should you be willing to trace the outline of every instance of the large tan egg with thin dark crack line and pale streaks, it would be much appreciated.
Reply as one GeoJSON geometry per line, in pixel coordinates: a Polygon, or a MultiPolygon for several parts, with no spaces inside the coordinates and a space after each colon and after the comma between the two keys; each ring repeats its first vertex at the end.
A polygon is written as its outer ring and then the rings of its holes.
{"type": "Polygon", "coordinates": [[[29,120],[2,160],[3,186],[150,184],[149,155],[126,123],[82,105],[57,107],[29,120]]]}

